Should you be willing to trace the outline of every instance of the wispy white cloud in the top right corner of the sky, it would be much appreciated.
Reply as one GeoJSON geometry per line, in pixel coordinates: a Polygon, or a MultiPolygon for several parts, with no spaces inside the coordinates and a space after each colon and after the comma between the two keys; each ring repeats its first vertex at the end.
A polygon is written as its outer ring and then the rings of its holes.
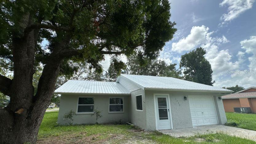
{"type": "Polygon", "coordinates": [[[223,0],[219,6],[228,6],[228,13],[221,16],[223,21],[221,25],[227,21],[237,18],[240,14],[252,8],[255,0],[223,0]]]}

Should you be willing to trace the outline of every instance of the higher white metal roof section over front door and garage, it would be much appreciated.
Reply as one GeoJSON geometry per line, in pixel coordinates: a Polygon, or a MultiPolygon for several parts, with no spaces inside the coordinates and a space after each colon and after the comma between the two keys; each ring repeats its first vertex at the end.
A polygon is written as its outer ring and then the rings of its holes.
{"type": "MultiPolygon", "coordinates": [[[[199,84],[187,80],[176,79],[172,77],[161,77],[161,76],[142,76],[142,75],[127,75],[121,74],[128,80],[137,84],[141,88],[159,90],[159,89],[169,89],[169,90],[188,90],[188,91],[218,91],[218,92],[232,92],[224,88],[213,87],[205,84],[199,84]]],[[[119,78],[117,79],[117,82],[119,78]]]]}

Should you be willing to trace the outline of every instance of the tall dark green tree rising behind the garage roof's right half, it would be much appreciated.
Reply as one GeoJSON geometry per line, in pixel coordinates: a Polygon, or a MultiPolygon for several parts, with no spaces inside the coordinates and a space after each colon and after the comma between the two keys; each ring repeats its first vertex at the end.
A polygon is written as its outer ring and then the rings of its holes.
{"type": "Polygon", "coordinates": [[[184,68],[184,80],[200,84],[213,85],[212,69],[209,61],[204,57],[206,50],[197,48],[181,56],[179,68],[184,68]]]}

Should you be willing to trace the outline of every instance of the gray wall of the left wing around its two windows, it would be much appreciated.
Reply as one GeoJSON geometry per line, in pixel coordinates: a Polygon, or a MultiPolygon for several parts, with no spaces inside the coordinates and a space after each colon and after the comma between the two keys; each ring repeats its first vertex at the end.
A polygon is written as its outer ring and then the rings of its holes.
{"type": "MultiPolygon", "coordinates": [[[[58,124],[65,125],[67,122],[63,120],[66,112],[73,110],[77,112],[78,97],[95,97],[94,109],[97,107],[101,111],[102,117],[98,119],[98,123],[112,123],[129,121],[130,113],[130,95],[75,95],[62,94],[60,100],[60,110],[58,115],[58,124]],[[124,112],[123,113],[109,113],[109,97],[124,97],[124,112]]],[[[73,124],[95,123],[96,117],[91,114],[77,114],[73,117],[73,124]]]]}

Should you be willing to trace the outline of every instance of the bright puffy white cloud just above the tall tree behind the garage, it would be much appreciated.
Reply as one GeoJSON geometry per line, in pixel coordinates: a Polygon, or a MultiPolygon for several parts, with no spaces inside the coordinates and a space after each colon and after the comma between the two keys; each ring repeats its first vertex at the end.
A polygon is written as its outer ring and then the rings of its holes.
{"type": "Polygon", "coordinates": [[[172,51],[181,53],[194,49],[196,46],[206,41],[208,30],[209,28],[204,25],[193,26],[187,37],[183,37],[178,42],[172,43],[172,51]]]}

